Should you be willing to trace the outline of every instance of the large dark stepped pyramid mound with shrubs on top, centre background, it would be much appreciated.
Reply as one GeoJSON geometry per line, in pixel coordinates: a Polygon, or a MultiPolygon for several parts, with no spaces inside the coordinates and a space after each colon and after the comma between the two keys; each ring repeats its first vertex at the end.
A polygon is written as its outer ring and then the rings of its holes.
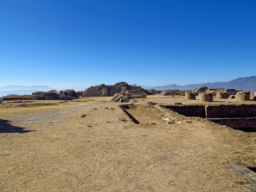
{"type": "Polygon", "coordinates": [[[144,94],[148,95],[149,93],[144,90],[142,87],[139,86],[132,86],[128,85],[126,82],[119,82],[115,85],[100,85],[97,87],[91,87],[90,89],[86,90],[82,97],[97,97],[97,96],[114,96],[117,93],[137,93],[137,94],[144,94]]]}

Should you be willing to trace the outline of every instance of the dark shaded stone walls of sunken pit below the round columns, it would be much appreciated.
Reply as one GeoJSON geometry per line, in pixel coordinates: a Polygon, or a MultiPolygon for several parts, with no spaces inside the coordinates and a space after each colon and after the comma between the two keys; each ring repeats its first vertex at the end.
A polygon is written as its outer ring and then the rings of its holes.
{"type": "Polygon", "coordinates": [[[206,118],[245,131],[256,130],[256,104],[160,105],[179,114],[206,118]]]}

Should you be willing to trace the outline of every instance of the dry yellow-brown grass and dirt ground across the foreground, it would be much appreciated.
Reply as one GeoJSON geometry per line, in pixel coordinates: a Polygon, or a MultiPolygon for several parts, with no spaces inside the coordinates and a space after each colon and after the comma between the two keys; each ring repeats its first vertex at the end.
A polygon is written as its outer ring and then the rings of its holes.
{"type": "Polygon", "coordinates": [[[140,124],[110,100],[0,104],[0,191],[250,191],[230,167],[255,161],[255,136],[148,105],[198,100],[133,100],[140,124]]]}

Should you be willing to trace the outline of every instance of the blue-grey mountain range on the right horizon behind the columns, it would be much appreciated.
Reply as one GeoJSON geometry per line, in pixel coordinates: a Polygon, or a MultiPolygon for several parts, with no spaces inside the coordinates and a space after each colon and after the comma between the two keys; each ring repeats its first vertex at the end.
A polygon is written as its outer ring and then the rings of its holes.
{"type": "Polygon", "coordinates": [[[173,84],[173,85],[156,86],[156,87],[148,87],[148,86],[141,86],[141,87],[144,89],[156,89],[156,90],[167,90],[167,89],[189,90],[189,89],[195,89],[200,86],[206,86],[211,89],[222,87],[226,89],[249,90],[251,92],[254,92],[256,91],[256,76],[240,77],[228,82],[198,83],[198,84],[183,85],[183,86],[173,84]]]}

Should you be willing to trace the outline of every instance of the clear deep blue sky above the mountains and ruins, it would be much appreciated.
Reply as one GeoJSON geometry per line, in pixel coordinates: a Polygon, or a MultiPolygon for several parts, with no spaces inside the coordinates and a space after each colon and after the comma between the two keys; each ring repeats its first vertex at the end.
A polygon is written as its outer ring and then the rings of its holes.
{"type": "Polygon", "coordinates": [[[0,0],[0,87],[256,75],[255,0],[0,0]]]}

